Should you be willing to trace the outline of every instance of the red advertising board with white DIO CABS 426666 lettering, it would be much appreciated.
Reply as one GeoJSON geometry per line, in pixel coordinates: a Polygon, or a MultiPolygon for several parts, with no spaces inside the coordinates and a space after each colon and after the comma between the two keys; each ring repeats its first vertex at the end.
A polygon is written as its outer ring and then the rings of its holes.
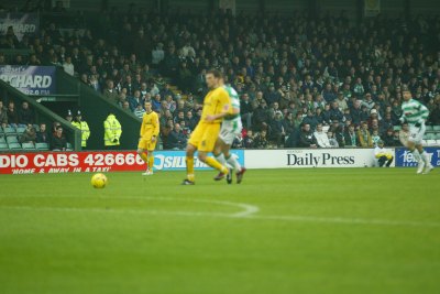
{"type": "Polygon", "coordinates": [[[0,153],[0,174],[87,173],[143,171],[135,152],[0,153]]]}

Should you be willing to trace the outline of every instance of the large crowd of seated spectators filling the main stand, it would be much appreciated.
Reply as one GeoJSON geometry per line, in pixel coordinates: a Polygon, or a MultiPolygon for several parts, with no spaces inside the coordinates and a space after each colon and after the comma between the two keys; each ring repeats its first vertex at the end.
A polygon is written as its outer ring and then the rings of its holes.
{"type": "MultiPolygon", "coordinates": [[[[239,92],[235,148],[398,145],[402,87],[440,124],[440,18],[129,14],[102,11],[84,34],[55,23],[18,42],[15,64],[56,65],[136,117],[151,100],[164,149],[183,149],[201,113],[205,73],[239,92]],[[176,91],[175,87],[182,91],[176,91]]],[[[13,34],[10,32],[9,34],[13,34]]],[[[2,59],[0,56],[0,64],[2,59]]]]}

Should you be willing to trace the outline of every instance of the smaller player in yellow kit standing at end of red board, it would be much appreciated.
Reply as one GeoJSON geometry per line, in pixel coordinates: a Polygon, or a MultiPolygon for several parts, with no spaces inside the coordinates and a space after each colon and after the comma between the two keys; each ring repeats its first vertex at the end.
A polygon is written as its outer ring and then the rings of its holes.
{"type": "Polygon", "coordinates": [[[141,139],[138,144],[138,154],[146,163],[146,172],[142,175],[152,175],[154,165],[154,150],[156,149],[160,131],[158,116],[152,110],[151,101],[145,101],[145,113],[142,118],[141,139]],[[146,152],[146,154],[145,154],[146,152]]]}

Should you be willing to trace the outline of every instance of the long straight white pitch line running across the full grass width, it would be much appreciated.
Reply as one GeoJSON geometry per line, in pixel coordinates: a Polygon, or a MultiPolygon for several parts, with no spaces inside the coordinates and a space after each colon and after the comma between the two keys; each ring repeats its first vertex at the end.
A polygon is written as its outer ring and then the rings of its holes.
{"type": "MultiPolygon", "coordinates": [[[[185,217],[219,217],[240,218],[256,220],[282,220],[295,222],[337,224],[337,225],[373,225],[373,226],[398,226],[398,227],[433,227],[440,228],[440,222],[422,221],[398,221],[384,219],[362,219],[341,217],[312,217],[312,216],[271,216],[271,215],[248,215],[239,217],[238,214],[208,213],[208,211],[166,211],[166,210],[142,210],[142,209],[106,209],[106,208],[68,208],[68,207],[32,207],[32,206],[3,206],[0,209],[16,210],[45,210],[45,211],[76,211],[76,213],[113,213],[113,214],[136,214],[136,215],[168,215],[185,217]]],[[[240,213],[239,213],[240,214],[240,213]]]]}

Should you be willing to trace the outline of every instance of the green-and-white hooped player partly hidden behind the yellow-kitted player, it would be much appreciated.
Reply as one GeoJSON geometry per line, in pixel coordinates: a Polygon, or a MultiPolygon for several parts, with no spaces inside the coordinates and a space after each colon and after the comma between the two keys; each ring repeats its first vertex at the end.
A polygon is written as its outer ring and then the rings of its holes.
{"type": "MultiPolygon", "coordinates": [[[[224,81],[221,80],[220,85],[224,87],[224,89],[229,94],[229,98],[231,99],[232,105],[232,113],[224,117],[219,138],[217,139],[216,146],[213,149],[213,155],[216,160],[221,164],[228,164],[231,166],[237,175],[237,183],[240,184],[243,179],[243,174],[246,172],[245,167],[242,167],[240,163],[237,161],[237,157],[233,154],[229,153],[231,145],[237,138],[241,133],[243,129],[241,117],[240,117],[240,98],[234,88],[229,85],[224,85],[224,81]]],[[[223,173],[219,173],[215,179],[220,181],[224,177],[223,173]]],[[[230,172],[227,175],[228,184],[232,183],[232,173],[230,172]]]]}

